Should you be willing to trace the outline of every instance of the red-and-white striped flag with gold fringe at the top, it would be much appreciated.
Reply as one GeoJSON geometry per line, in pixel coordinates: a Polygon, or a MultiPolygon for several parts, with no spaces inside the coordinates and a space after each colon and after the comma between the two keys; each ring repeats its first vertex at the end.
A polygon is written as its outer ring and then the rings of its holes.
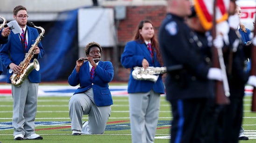
{"type": "MultiPolygon", "coordinates": [[[[217,0],[216,22],[228,20],[228,7],[230,0],[217,0]]],[[[194,0],[194,7],[203,27],[210,30],[213,26],[213,3],[214,0],[194,0]]]]}

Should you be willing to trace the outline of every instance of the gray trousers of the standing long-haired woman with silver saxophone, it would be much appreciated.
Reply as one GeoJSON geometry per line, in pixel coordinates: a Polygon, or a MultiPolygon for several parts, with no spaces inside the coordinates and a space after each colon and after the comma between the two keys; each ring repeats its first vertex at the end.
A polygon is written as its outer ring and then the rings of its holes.
{"type": "Polygon", "coordinates": [[[160,110],[160,94],[129,93],[132,143],[154,143],[160,110]]]}

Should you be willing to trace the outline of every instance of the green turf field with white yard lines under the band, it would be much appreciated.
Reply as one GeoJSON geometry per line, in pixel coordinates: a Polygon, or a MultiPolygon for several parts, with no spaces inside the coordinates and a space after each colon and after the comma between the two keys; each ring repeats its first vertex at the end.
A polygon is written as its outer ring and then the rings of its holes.
{"type": "MultiPolygon", "coordinates": [[[[71,136],[68,100],[70,97],[38,97],[36,115],[36,133],[43,136],[43,140],[14,141],[12,121],[12,97],[0,96],[0,141],[2,143],[131,143],[129,126],[129,108],[127,96],[114,96],[112,114],[108,120],[103,135],[71,136]],[[7,128],[3,130],[3,128],[7,128]]],[[[251,97],[244,98],[243,128],[248,141],[256,142],[256,113],[250,112],[251,97]]],[[[155,143],[169,143],[170,140],[170,104],[161,97],[159,122],[155,143]]],[[[84,121],[87,116],[84,116],[84,121]]]]}

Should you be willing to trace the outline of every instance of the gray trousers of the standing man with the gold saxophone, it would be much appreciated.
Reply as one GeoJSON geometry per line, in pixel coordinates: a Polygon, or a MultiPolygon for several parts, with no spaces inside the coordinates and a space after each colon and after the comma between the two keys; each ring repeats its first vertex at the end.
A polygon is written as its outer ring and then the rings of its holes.
{"type": "Polygon", "coordinates": [[[38,83],[25,78],[21,86],[12,84],[14,136],[35,134],[38,83]]]}

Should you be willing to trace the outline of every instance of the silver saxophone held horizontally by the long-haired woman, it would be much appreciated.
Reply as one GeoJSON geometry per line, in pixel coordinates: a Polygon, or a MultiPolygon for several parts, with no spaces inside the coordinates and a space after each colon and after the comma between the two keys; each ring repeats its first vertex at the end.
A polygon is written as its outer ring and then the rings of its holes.
{"type": "Polygon", "coordinates": [[[149,80],[156,82],[159,74],[164,74],[166,72],[166,67],[149,66],[147,69],[144,69],[143,67],[135,66],[132,71],[132,76],[136,80],[149,80]]]}

